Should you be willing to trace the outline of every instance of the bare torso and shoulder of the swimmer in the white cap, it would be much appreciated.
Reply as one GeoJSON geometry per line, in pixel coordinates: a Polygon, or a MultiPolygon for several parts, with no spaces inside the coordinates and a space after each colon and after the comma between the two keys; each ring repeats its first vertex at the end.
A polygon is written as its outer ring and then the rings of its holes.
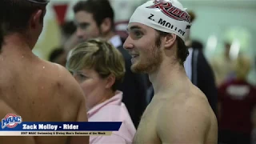
{"type": "Polygon", "coordinates": [[[217,120],[206,96],[192,83],[186,86],[154,96],[135,143],[217,143],[217,120]]]}

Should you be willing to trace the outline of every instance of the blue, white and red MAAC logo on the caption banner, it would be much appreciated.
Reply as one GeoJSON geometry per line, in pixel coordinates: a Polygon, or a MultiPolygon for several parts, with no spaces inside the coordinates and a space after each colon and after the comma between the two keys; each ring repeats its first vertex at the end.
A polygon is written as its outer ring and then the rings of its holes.
{"type": "Polygon", "coordinates": [[[14,128],[18,124],[22,123],[22,117],[16,114],[6,114],[5,118],[2,118],[2,129],[6,126],[8,128],[14,128]]]}

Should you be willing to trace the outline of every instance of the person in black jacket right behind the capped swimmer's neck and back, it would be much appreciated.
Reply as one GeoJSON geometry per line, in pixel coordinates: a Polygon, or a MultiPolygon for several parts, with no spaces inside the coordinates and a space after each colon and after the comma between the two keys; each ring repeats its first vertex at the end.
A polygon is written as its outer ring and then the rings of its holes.
{"type": "MultiPolygon", "coordinates": [[[[189,11],[189,14],[191,22],[194,22],[196,15],[193,11],[189,11]]],[[[191,82],[206,94],[211,108],[214,110],[214,113],[217,114],[218,90],[215,83],[214,72],[202,51],[203,45],[201,42],[190,40],[186,42],[186,45],[189,47],[190,51],[184,63],[186,74],[189,76],[191,82]]]]}

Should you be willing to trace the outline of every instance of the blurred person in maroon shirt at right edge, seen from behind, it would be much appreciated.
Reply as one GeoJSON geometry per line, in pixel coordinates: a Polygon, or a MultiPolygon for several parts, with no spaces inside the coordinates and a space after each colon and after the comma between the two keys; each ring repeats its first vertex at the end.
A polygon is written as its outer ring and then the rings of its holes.
{"type": "Polygon", "coordinates": [[[236,78],[224,82],[218,89],[220,142],[250,144],[251,119],[255,115],[252,112],[255,113],[256,106],[256,91],[246,81],[250,65],[249,58],[239,56],[234,68],[236,78]]]}

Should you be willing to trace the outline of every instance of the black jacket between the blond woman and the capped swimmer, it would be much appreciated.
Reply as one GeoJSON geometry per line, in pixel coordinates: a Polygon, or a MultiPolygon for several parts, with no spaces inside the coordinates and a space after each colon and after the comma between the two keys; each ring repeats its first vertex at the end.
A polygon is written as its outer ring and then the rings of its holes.
{"type": "Polygon", "coordinates": [[[128,52],[122,46],[119,46],[118,50],[122,53],[126,62],[126,74],[122,84],[118,86],[118,90],[122,90],[122,102],[126,104],[130,117],[134,122],[134,126],[137,128],[142,113],[146,109],[146,75],[134,74],[130,70],[130,54],[128,54],[128,52]]]}

